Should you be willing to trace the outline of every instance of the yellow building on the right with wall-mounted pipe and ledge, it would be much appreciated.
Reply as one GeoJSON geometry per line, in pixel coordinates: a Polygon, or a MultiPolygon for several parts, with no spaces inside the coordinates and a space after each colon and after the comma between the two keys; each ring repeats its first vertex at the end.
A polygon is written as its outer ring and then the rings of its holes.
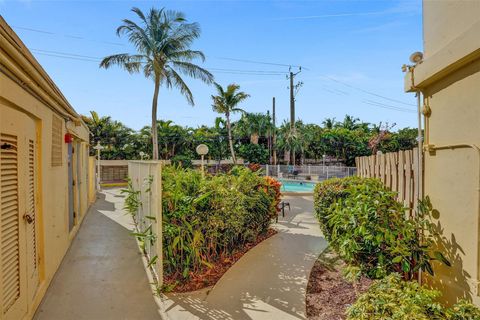
{"type": "Polygon", "coordinates": [[[424,194],[453,266],[429,281],[448,303],[480,305],[480,1],[423,1],[423,61],[406,91],[423,98],[424,194]]]}

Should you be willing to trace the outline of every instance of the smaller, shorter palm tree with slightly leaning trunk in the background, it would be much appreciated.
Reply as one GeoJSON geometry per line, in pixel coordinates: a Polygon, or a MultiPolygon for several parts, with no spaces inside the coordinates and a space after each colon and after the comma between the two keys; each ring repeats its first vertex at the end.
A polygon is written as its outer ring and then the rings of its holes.
{"type": "Polygon", "coordinates": [[[228,144],[230,145],[230,152],[232,154],[233,163],[237,163],[237,158],[235,157],[235,150],[233,150],[232,125],[230,123],[230,115],[235,112],[244,112],[237,106],[240,104],[240,102],[247,99],[249,95],[243,91],[239,91],[240,86],[237,84],[229,84],[227,86],[227,90],[224,90],[223,87],[218,83],[215,83],[215,87],[217,88],[217,95],[212,95],[212,108],[213,111],[225,115],[228,131],[228,144]]]}

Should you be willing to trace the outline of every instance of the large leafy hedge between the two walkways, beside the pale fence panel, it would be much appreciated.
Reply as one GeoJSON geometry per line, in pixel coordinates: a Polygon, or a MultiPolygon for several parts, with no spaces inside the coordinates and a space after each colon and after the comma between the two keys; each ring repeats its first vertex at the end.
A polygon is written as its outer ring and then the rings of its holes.
{"type": "Polygon", "coordinates": [[[243,167],[207,175],[163,170],[164,272],[187,280],[264,234],[277,214],[272,181],[243,167]]]}

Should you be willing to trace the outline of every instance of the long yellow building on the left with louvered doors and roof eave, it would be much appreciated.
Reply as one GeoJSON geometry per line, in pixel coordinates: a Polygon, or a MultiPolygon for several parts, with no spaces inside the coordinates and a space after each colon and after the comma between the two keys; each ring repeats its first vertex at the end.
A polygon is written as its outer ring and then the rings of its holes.
{"type": "Polygon", "coordinates": [[[0,16],[0,319],[33,316],[78,230],[91,198],[88,140],[0,16]]]}

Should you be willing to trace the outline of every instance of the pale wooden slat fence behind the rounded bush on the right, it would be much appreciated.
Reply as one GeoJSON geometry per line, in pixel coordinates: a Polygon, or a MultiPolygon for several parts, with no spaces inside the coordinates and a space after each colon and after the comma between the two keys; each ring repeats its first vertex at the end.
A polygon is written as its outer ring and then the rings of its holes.
{"type": "MultiPolygon", "coordinates": [[[[416,210],[418,195],[423,194],[422,179],[418,179],[418,149],[357,157],[357,175],[378,178],[385,186],[398,193],[397,200],[416,210]]],[[[423,164],[420,166],[423,170],[423,164]]]]}

